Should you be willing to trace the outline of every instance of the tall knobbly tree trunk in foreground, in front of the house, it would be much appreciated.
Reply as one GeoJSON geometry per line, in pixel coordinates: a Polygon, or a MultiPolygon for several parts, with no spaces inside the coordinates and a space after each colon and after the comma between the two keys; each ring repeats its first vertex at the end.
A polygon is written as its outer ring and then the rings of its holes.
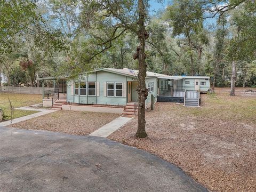
{"type": "Polygon", "coordinates": [[[147,133],[145,131],[145,100],[147,99],[148,90],[146,89],[146,74],[147,74],[147,65],[145,62],[145,41],[148,37],[145,29],[145,5],[143,0],[138,1],[138,9],[139,9],[139,31],[138,38],[140,41],[140,46],[137,47],[137,58],[139,60],[139,74],[138,74],[138,95],[139,95],[139,106],[138,106],[138,129],[136,133],[136,137],[145,138],[147,137],[147,133]]]}

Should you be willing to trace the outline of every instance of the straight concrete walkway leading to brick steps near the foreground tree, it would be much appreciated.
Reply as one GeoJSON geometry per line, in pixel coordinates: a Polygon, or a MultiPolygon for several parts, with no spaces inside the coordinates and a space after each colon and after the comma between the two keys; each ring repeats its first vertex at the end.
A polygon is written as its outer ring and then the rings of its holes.
{"type": "Polygon", "coordinates": [[[107,138],[108,135],[118,130],[121,126],[131,120],[133,117],[118,117],[110,123],[102,126],[100,129],[89,134],[90,136],[107,138]]]}

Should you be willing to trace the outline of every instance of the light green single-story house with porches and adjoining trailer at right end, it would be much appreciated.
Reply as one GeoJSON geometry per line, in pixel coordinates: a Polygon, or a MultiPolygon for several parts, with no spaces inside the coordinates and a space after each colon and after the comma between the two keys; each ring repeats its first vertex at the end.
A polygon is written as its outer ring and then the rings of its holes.
{"type": "MultiPolygon", "coordinates": [[[[84,73],[76,79],[39,78],[43,81],[53,79],[55,87],[54,90],[43,91],[43,105],[68,110],[82,110],[85,106],[94,110],[97,106],[102,111],[114,108],[114,111],[124,110],[123,114],[132,114],[137,111],[137,76],[138,70],[100,68],[84,73]],[[55,83],[57,80],[60,83],[55,83]],[[58,99],[55,99],[57,93],[58,99]],[[65,105],[62,105],[64,103],[65,105]]],[[[194,91],[193,94],[196,93],[198,97],[199,91],[207,91],[210,88],[210,77],[167,76],[147,71],[146,86],[148,88],[146,108],[151,105],[151,95],[154,95],[155,102],[159,100],[185,103],[186,90],[194,91]]]]}

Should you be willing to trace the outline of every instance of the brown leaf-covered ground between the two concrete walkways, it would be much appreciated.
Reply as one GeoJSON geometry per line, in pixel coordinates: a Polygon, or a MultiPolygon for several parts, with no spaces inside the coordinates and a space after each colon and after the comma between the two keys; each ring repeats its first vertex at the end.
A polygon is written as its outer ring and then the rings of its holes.
{"type": "Polygon", "coordinates": [[[9,125],[9,127],[87,135],[119,116],[119,114],[110,113],[60,110],[27,121],[12,124],[9,125]]]}

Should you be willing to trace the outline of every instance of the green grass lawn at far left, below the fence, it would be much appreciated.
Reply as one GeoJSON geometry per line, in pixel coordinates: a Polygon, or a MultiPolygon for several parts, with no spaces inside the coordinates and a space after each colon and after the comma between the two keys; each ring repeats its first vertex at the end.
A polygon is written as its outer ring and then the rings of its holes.
{"type": "MultiPolygon", "coordinates": [[[[10,99],[13,108],[42,103],[42,95],[38,94],[0,93],[0,108],[3,109],[5,116],[7,116],[6,119],[11,119],[11,107],[8,98],[10,99]]],[[[15,109],[13,110],[12,118],[18,118],[37,112],[38,111],[15,109]]]]}

